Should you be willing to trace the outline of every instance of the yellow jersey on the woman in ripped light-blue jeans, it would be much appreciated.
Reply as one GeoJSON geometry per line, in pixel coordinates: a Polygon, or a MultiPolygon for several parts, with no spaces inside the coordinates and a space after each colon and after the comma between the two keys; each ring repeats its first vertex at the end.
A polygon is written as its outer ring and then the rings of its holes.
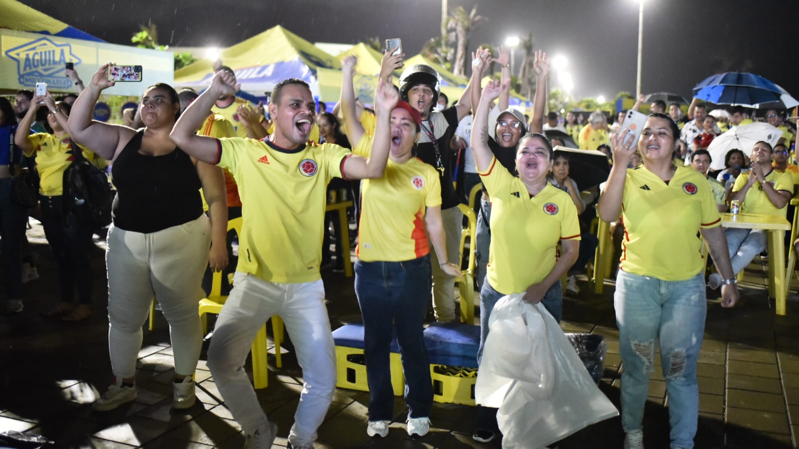
{"type": "Polygon", "coordinates": [[[698,231],[721,225],[705,176],[681,166],[668,185],[643,165],[627,169],[622,221],[619,268],[660,280],[686,280],[701,272],[698,231]]]}

